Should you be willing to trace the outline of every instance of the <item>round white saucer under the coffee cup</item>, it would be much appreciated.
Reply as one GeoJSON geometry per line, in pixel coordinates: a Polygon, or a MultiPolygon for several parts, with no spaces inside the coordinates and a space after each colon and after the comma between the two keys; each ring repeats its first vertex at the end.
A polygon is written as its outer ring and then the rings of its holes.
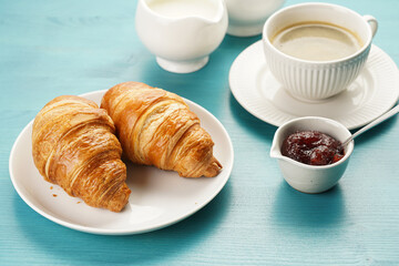
{"type": "Polygon", "coordinates": [[[300,116],[336,120],[349,130],[362,126],[391,109],[399,98],[399,72],[378,47],[348,89],[320,102],[293,98],[275,80],[265,62],[262,41],[245,49],[233,62],[229,86],[238,103],[256,117],[279,126],[300,116]]]}

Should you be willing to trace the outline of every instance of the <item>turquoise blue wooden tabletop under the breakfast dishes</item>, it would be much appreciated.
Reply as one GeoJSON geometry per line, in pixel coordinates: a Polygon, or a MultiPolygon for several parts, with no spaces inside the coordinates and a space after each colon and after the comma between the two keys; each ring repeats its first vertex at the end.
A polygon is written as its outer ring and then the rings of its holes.
{"type": "MultiPolygon", "coordinates": [[[[399,1],[328,2],[375,16],[374,43],[399,64],[399,1]]],[[[268,155],[276,126],[245,111],[228,86],[234,59],[260,37],[227,35],[204,69],[173,74],[139,40],[135,8],[0,0],[0,265],[399,265],[397,117],[356,140],[335,188],[299,193],[268,155]],[[193,216],[141,235],[81,233],[35,213],[9,175],[18,134],[54,96],[130,80],[176,92],[224,124],[235,151],[226,186],[193,216]]]]}

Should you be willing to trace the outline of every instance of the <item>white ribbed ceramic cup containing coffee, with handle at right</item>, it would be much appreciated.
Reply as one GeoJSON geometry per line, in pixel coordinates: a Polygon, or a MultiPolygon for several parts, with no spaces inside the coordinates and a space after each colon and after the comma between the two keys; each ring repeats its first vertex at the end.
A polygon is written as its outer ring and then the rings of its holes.
{"type": "Polygon", "coordinates": [[[334,96],[359,75],[364,68],[377,20],[371,16],[331,3],[308,2],[284,8],[272,14],[263,29],[266,63],[273,75],[293,96],[305,101],[319,101],[334,96]],[[277,49],[272,39],[277,32],[293,24],[318,21],[354,32],[362,45],[355,53],[335,60],[313,61],[288,55],[277,49]]]}

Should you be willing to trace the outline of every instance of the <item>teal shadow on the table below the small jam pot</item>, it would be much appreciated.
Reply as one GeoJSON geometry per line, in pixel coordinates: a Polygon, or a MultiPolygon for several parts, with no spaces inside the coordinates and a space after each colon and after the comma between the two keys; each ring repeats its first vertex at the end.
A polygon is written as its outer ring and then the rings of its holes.
{"type": "Polygon", "coordinates": [[[320,194],[306,194],[282,181],[277,190],[272,217],[277,227],[323,228],[337,227],[345,219],[345,198],[339,183],[320,194]]]}

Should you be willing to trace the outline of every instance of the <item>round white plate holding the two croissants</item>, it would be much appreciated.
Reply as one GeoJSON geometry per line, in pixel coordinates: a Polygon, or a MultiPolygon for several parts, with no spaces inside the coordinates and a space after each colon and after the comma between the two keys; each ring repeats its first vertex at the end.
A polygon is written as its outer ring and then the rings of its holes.
{"type": "MultiPolygon", "coordinates": [[[[98,104],[105,91],[82,96],[98,104]]],[[[132,190],[121,213],[93,208],[43,180],[33,164],[32,121],[18,136],[10,154],[10,176],[18,194],[35,212],[63,226],[93,234],[137,234],[172,225],[204,207],[226,184],[233,168],[232,141],[208,111],[185,100],[215,142],[214,155],[223,170],[216,177],[184,178],[175,172],[126,162],[132,190]]]]}

